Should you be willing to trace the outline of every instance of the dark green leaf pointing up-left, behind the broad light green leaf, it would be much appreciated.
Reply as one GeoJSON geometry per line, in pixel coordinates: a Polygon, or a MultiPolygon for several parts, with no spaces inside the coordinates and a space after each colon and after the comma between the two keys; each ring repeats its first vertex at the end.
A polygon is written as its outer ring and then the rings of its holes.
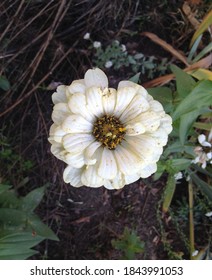
{"type": "Polygon", "coordinates": [[[176,76],[177,92],[179,97],[180,99],[183,99],[192,91],[196,82],[189,74],[181,70],[176,65],[171,65],[171,70],[176,76]]]}

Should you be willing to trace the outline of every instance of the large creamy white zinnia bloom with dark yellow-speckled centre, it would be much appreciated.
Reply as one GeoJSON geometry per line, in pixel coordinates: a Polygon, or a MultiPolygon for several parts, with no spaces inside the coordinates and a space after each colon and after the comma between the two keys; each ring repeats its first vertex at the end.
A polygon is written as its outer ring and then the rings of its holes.
{"type": "Polygon", "coordinates": [[[52,100],[49,141],[67,164],[66,183],[120,189],[156,171],[172,119],[142,86],[122,81],[109,88],[96,68],[59,86],[52,100]]]}

